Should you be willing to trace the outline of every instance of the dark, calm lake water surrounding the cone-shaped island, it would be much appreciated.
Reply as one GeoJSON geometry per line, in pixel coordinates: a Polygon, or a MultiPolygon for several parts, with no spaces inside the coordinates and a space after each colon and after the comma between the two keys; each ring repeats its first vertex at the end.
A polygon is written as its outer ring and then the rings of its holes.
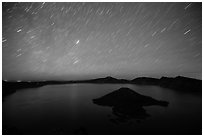
{"type": "Polygon", "coordinates": [[[157,86],[131,84],[67,84],[19,90],[2,105],[3,127],[19,134],[201,134],[202,97],[157,86]],[[99,98],[121,87],[168,107],[144,107],[145,119],[120,119],[111,107],[96,105],[99,98]]]}

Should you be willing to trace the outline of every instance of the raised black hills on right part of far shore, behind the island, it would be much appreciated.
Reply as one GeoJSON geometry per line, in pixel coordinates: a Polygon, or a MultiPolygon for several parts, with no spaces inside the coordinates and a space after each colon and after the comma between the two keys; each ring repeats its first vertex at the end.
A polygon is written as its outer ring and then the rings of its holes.
{"type": "Polygon", "coordinates": [[[180,90],[180,91],[190,91],[190,92],[201,92],[202,91],[202,80],[177,76],[174,78],[161,77],[150,78],[150,77],[139,77],[133,80],[116,79],[113,77],[98,78],[93,80],[88,80],[85,82],[91,83],[129,83],[138,85],[157,85],[169,89],[180,90]]]}

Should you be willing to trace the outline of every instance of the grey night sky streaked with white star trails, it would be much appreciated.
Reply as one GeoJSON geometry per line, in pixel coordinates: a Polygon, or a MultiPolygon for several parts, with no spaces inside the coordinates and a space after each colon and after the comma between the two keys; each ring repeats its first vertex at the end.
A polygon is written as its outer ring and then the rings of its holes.
{"type": "Polygon", "coordinates": [[[201,6],[2,3],[3,79],[201,79],[201,6]]]}

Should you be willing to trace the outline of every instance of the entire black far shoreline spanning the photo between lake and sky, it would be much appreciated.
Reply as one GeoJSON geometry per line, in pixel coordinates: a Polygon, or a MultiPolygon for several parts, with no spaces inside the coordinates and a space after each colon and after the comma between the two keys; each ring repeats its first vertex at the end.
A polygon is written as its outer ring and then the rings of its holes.
{"type": "Polygon", "coordinates": [[[40,81],[40,82],[7,82],[2,81],[2,95],[8,95],[15,92],[18,89],[25,88],[35,88],[44,85],[53,84],[69,84],[69,83],[126,83],[126,84],[138,84],[138,85],[156,85],[169,89],[174,89],[183,92],[200,92],[202,91],[202,80],[197,80],[193,78],[187,78],[178,76],[175,78],[162,77],[160,79],[139,77],[133,80],[126,79],[116,79],[113,77],[105,77],[91,80],[81,80],[81,81],[40,81]]]}

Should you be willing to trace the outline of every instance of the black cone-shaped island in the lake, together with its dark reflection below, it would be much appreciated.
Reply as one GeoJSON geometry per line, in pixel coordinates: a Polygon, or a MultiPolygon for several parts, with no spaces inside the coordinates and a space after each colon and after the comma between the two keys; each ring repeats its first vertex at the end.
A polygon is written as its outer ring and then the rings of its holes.
{"type": "Polygon", "coordinates": [[[169,104],[166,101],[156,100],[124,87],[100,98],[93,99],[93,103],[112,107],[112,113],[117,118],[110,119],[110,121],[115,124],[124,123],[131,119],[136,119],[138,122],[146,119],[150,114],[146,112],[143,106],[157,105],[167,107],[169,104]]]}

